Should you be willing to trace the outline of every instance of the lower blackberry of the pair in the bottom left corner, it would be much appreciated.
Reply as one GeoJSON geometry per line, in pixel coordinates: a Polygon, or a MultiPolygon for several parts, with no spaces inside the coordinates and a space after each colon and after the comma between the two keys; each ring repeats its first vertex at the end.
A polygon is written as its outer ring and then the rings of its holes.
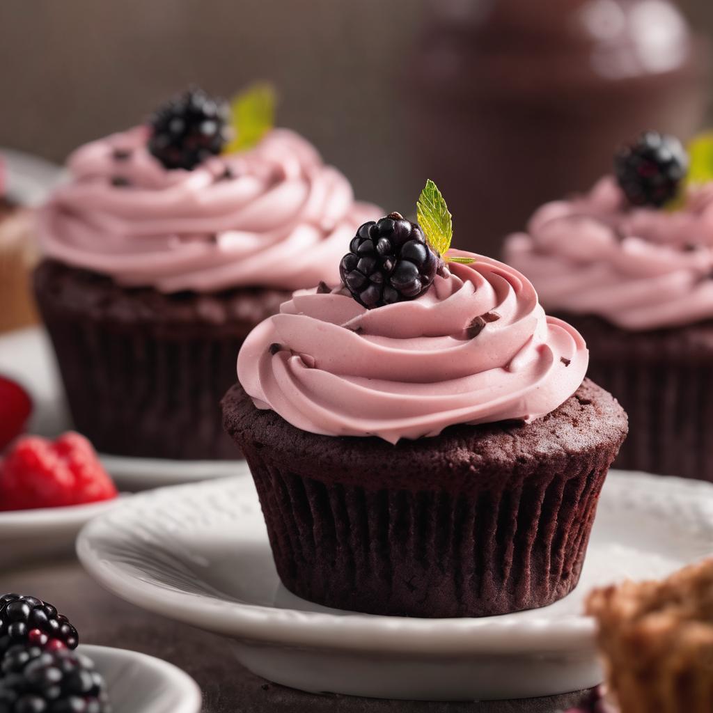
{"type": "Polygon", "coordinates": [[[77,652],[15,646],[2,673],[0,713],[111,713],[101,674],[77,652]]]}

